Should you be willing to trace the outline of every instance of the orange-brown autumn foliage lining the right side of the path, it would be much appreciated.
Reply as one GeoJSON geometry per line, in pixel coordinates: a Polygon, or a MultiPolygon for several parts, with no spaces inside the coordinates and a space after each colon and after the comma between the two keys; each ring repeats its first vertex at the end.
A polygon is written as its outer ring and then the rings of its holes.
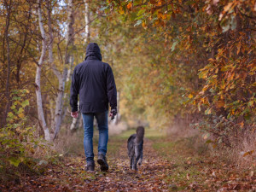
{"type": "Polygon", "coordinates": [[[154,99],[145,106],[165,117],[206,118],[195,127],[211,132],[216,142],[254,131],[254,1],[110,0],[108,6],[151,36],[142,47],[154,49],[155,65],[149,66],[150,84],[142,86],[154,99]]]}

